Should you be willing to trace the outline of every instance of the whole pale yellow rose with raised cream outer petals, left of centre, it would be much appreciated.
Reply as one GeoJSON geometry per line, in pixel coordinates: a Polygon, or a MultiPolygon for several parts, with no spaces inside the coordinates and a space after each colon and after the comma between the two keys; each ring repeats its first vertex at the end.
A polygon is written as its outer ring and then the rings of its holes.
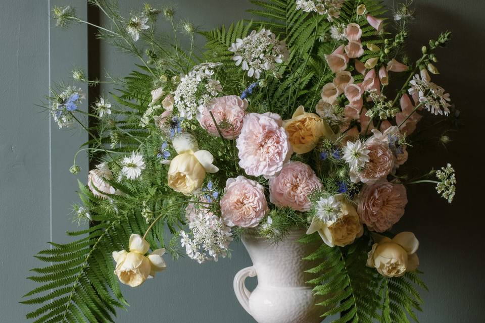
{"type": "Polygon", "coordinates": [[[168,186],[174,191],[190,195],[200,188],[207,173],[216,173],[219,169],[212,163],[214,157],[207,150],[199,150],[194,136],[182,133],[172,141],[177,156],[172,159],[168,169],[168,186]]]}

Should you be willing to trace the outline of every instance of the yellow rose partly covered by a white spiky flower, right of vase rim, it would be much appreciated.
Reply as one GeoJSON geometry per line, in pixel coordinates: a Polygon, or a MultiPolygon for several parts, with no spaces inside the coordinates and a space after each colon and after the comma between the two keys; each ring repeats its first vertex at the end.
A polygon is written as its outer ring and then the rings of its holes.
{"type": "Polygon", "coordinates": [[[360,223],[359,216],[354,206],[344,200],[343,194],[334,196],[340,205],[338,219],[335,221],[323,222],[318,218],[318,214],[313,218],[307,234],[318,232],[323,242],[329,247],[347,246],[359,238],[364,233],[364,226],[360,223]]]}

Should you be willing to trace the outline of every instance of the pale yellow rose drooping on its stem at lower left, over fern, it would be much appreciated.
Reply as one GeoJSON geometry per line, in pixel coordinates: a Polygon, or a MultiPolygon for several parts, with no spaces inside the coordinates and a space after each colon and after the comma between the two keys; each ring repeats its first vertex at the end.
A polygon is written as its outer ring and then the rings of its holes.
{"type": "Polygon", "coordinates": [[[166,268],[162,258],[165,249],[154,250],[148,256],[145,254],[150,249],[150,244],[138,234],[130,236],[129,251],[113,251],[113,259],[116,261],[115,275],[120,282],[131,287],[143,284],[148,278],[155,277],[156,272],[166,268]]]}

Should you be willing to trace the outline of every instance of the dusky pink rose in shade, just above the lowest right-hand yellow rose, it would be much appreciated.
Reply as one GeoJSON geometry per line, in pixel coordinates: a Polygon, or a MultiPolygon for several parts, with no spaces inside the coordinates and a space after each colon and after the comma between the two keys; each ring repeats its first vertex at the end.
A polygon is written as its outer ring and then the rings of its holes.
{"type": "Polygon", "coordinates": [[[401,219],[407,203],[404,185],[383,180],[363,186],[358,196],[357,212],[369,230],[384,232],[401,219]]]}

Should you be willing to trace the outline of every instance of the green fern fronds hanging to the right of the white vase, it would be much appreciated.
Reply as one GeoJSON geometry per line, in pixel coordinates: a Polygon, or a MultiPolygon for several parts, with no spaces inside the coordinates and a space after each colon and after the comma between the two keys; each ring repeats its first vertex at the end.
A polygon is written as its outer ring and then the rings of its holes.
{"type": "MultiPolygon", "coordinates": [[[[319,240],[317,234],[302,239],[309,243],[319,240]]],[[[320,248],[305,260],[318,261],[318,265],[308,270],[318,275],[309,281],[315,285],[318,303],[325,308],[322,316],[341,313],[332,323],[409,323],[417,321],[414,310],[421,311],[422,299],[416,286],[427,290],[417,272],[406,273],[403,277],[384,278],[375,268],[367,267],[367,252],[370,239],[363,237],[346,247],[320,248]]]]}

